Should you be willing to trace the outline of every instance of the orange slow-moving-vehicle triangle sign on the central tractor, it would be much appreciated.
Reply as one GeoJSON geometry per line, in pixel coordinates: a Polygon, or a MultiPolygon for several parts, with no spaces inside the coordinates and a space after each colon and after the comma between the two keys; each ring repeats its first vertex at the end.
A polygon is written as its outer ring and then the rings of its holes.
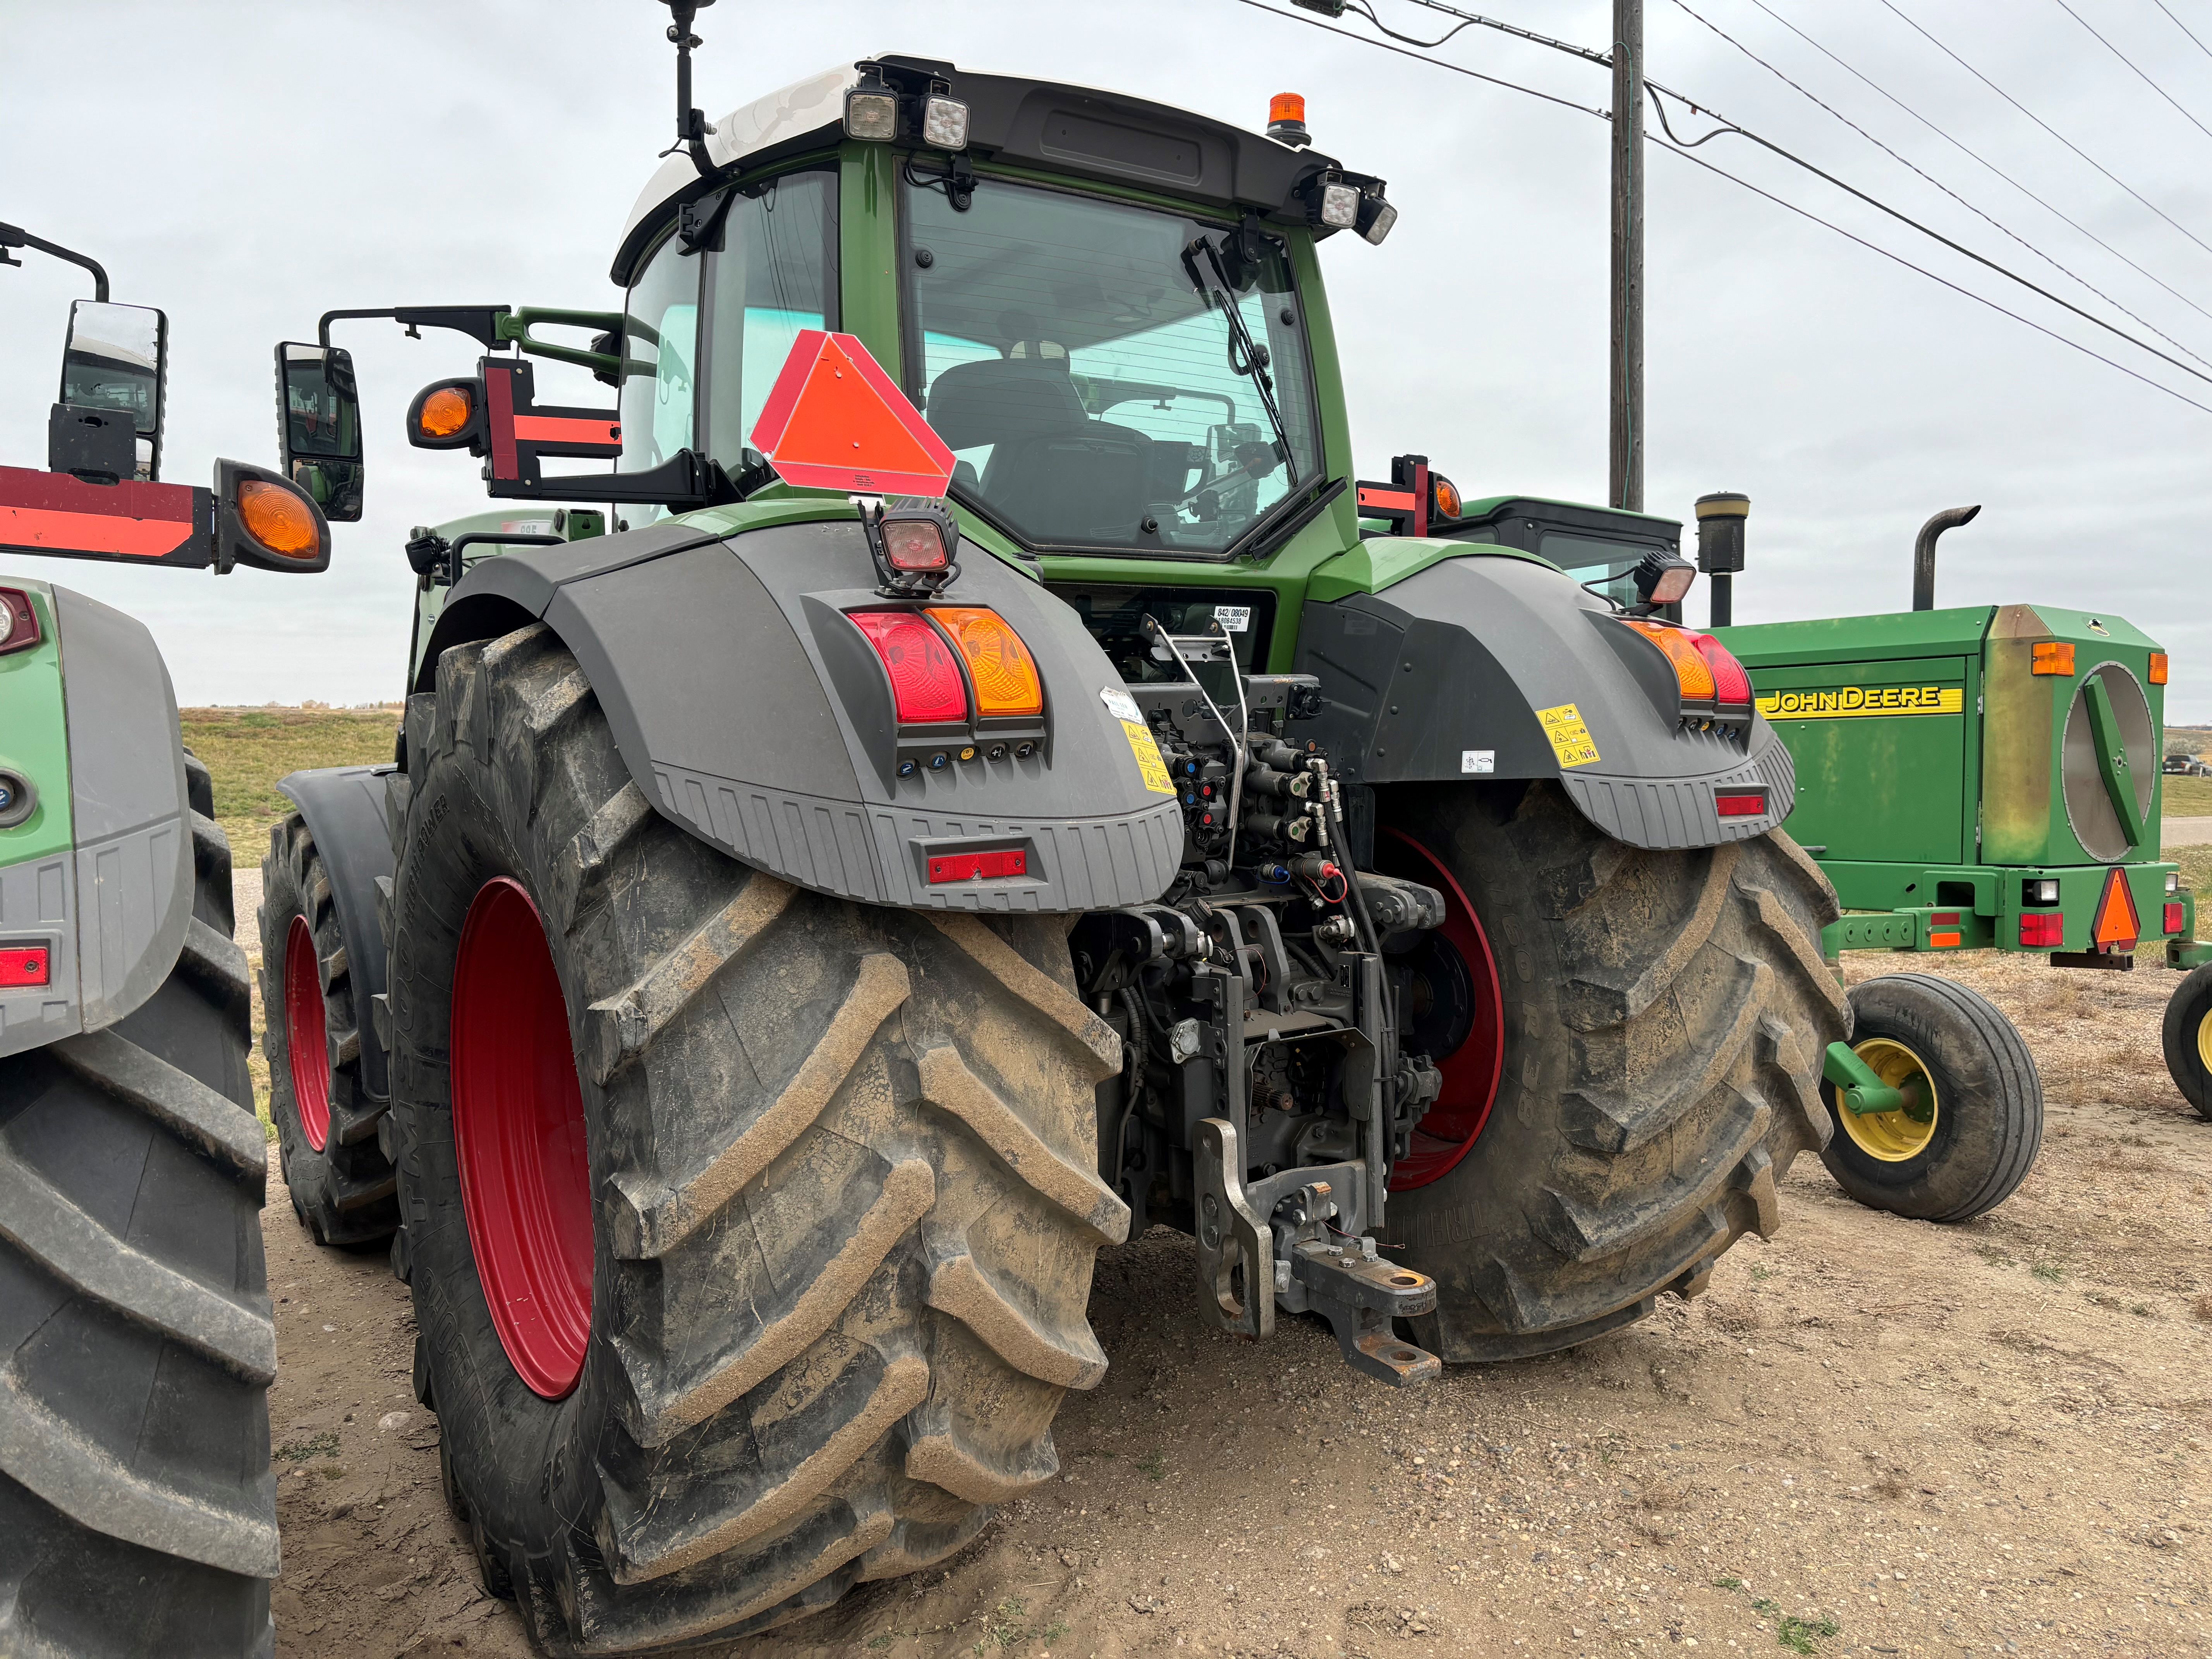
{"type": "Polygon", "coordinates": [[[810,327],[752,427],[752,447],[799,489],[942,495],[953,451],[852,334],[810,327]]]}

